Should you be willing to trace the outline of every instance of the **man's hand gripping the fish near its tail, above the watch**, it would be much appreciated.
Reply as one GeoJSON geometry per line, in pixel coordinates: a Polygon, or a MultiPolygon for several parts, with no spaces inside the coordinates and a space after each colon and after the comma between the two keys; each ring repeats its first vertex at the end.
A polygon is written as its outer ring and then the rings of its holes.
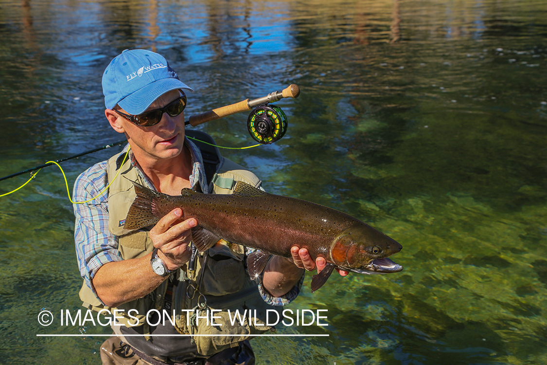
{"type": "Polygon", "coordinates": [[[158,256],[167,269],[176,270],[190,260],[192,240],[191,228],[196,227],[195,218],[181,221],[182,209],[176,208],[160,219],[150,230],[149,236],[158,256]]]}

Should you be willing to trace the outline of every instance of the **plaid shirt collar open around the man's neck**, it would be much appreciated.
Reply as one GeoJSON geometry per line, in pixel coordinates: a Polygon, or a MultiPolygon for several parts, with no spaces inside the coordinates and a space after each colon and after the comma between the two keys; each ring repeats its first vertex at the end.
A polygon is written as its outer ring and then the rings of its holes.
{"type": "MultiPolygon", "coordinates": [[[[205,176],[205,166],[203,166],[203,158],[201,157],[201,150],[197,148],[194,142],[190,141],[188,137],[184,137],[184,146],[188,147],[190,150],[190,155],[192,158],[192,173],[189,177],[190,186],[193,190],[196,190],[199,184],[199,187],[201,188],[201,191],[205,194],[209,193],[209,186],[207,184],[207,177],[205,176]]],[[[126,144],[124,149],[121,151],[120,155],[116,159],[116,167],[117,169],[120,169],[121,163],[124,160],[125,153],[127,152],[127,149],[129,148],[129,143],[126,144]]],[[[146,181],[148,188],[156,190],[154,187],[154,184],[148,176],[142,171],[141,166],[139,166],[137,159],[135,158],[135,155],[133,155],[133,152],[129,152],[129,158],[131,160],[131,165],[137,169],[137,173],[141,178],[146,181]]]]}

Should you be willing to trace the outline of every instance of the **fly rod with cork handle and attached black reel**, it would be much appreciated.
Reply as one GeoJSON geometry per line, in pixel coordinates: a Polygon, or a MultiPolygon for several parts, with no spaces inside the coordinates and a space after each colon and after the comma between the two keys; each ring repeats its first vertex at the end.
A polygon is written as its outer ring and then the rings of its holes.
{"type": "MultiPolygon", "coordinates": [[[[256,141],[260,143],[263,143],[263,144],[272,143],[272,142],[278,141],[281,137],[283,137],[285,131],[287,130],[287,120],[286,120],[287,118],[286,118],[286,115],[284,115],[283,111],[281,111],[281,108],[276,106],[267,106],[267,104],[281,100],[284,97],[296,98],[299,95],[300,95],[300,88],[298,87],[298,85],[292,84],[292,85],[289,85],[286,89],[283,89],[281,91],[271,92],[270,94],[263,97],[259,97],[258,99],[253,99],[253,100],[246,99],[246,100],[237,102],[235,104],[226,105],[223,107],[213,109],[205,113],[190,115],[189,120],[185,121],[184,125],[190,124],[191,126],[195,127],[196,125],[200,125],[202,123],[205,123],[206,121],[216,120],[222,117],[226,117],[226,115],[245,112],[245,111],[251,110],[252,108],[255,108],[252,115],[249,115],[249,119],[247,121],[248,123],[247,127],[249,130],[249,133],[256,141]]],[[[84,155],[98,152],[103,149],[119,146],[120,144],[123,144],[126,142],[127,141],[124,140],[124,141],[119,141],[115,143],[110,143],[103,147],[91,149],[89,151],[82,152],[77,155],[56,160],[55,162],[60,163],[62,161],[67,161],[74,158],[82,157],[84,155]]],[[[51,165],[54,165],[54,164],[46,163],[40,166],[32,167],[32,169],[16,172],[9,176],[4,176],[0,178],[0,181],[9,179],[11,177],[19,176],[27,172],[36,171],[36,170],[42,169],[43,167],[48,167],[51,165]]]]}

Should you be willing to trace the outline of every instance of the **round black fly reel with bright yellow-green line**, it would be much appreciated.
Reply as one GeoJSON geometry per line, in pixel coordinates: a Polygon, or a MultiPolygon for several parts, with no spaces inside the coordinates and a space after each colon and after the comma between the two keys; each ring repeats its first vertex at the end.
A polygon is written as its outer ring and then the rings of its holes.
{"type": "Polygon", "coordinates": [[[287,132],[287,115],[276,105],[260,105],[249,114],[247,129],[258,143],[277,142],[287,132]]]}

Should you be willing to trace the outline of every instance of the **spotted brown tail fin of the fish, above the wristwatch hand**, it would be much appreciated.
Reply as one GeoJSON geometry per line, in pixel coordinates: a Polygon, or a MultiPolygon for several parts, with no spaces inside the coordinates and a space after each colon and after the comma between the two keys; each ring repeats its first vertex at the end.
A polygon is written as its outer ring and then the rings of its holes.
{"type": "Polygon", "coordinates": [[[170,195],[155,192],[136,182],[133,182],[133,184],[135,185],[137,198],[135,198],[129,212],[127,212],[124,223],[125,229],[139,229],[156,224],[161,217],[179,206],[174,204],[173,197],[170,195]]]}

